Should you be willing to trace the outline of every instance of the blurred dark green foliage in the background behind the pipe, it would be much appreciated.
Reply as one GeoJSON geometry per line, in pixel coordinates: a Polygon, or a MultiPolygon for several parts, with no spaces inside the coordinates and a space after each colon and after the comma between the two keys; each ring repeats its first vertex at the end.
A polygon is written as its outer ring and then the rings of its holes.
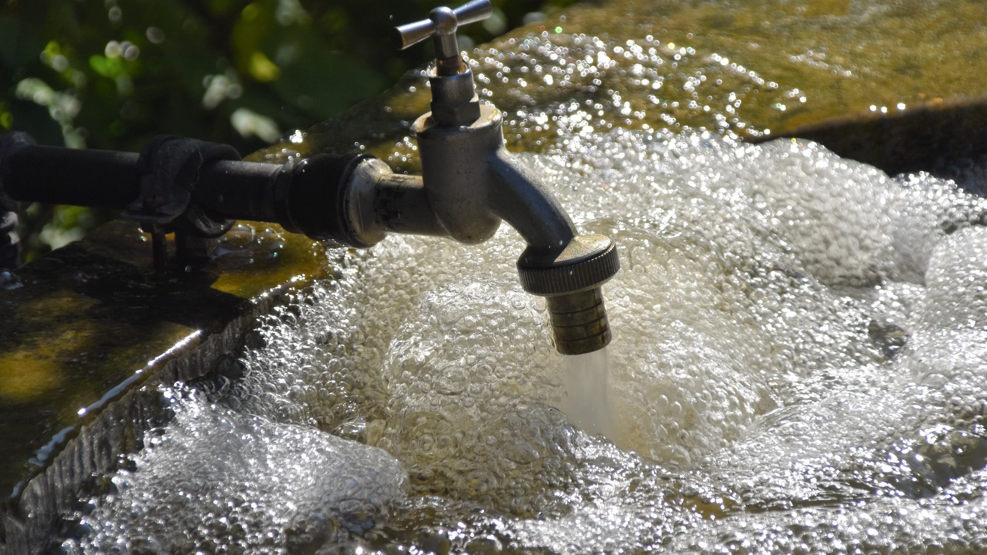
{"type": "MultiPolygon", "coordinates": [[[[465,1],[465,0],[464,0],[465,1]]],[[[574,0],[493,0],[461,30],[490,40],[574,0]]],[[[249,153],[370,97],[422,65],[391,29],[441,0],[0,0],[0,129],[40,144],[138,151],[185,135],[249,153]]],[[[453,6],[458,5],[456,2],[453,6]]],[[[35,204],[24,259],[113,214],[35,204]]]]}

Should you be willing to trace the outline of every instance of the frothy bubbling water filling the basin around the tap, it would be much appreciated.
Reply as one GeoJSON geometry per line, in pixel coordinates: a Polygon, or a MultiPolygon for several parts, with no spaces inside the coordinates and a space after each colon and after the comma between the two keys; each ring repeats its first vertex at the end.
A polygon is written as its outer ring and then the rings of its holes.
{"type": "Polygon", "coordinates": [[[794,140],[558,144],[525,160],[620,249],[609,376],[553,351],[511,230],[391,237],[266,317],[234,386],[170,393],[65,545],[987,549],[983,199],[794,140]]]}

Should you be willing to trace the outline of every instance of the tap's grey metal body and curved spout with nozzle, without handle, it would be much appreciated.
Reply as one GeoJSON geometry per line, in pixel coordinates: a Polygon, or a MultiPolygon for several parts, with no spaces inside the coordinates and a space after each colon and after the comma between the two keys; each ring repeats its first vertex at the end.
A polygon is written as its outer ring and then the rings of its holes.
{"type": "Polygon", "coordinates": [[[613,241],[580,234],[537,173],[504,148],[500,111],[477,109],[479,118],[451,124],[429,113],[412,126],[428,206],[461,243],[481,243],[501,220],[510,224],[527,243],[517,261],[521,285],[547,298],[556,349],[580,355],[606,347],[600,286],[620,269],[613,241]]]}

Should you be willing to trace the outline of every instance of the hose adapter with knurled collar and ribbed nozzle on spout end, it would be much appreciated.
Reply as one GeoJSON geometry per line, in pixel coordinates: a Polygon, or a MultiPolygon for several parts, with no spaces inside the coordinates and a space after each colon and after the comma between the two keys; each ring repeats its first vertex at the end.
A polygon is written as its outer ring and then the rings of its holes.
{"type": "Polygon", "coordinates": [[[521,286],[546,297],[559,353],[583,355],[610,343],[602,285],[619,270],[617,248],[604,235],[576,235],[556,257],[531,247],[521,254],[521,286]]]}

